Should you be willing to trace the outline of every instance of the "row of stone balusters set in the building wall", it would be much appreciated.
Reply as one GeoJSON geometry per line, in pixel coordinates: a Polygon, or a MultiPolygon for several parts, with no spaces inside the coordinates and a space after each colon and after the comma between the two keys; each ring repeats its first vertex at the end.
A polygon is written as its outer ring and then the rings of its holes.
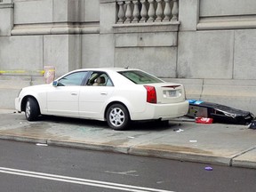
{"type": "Polygon", "coordinates": [[[116,4],[118,24],[178,21],[178,0],[117,0],[116,4]]]}

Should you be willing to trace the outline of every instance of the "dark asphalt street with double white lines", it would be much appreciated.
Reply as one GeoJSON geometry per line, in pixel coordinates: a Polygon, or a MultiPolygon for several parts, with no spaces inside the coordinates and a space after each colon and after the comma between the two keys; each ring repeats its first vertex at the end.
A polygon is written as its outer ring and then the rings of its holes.
{"type": "Polygon", "coordinates": [[[246,192],[255,170],[0,140],[3,192],[246,192]],[[212,171],[204,168],[211,166],[212,171]]]}

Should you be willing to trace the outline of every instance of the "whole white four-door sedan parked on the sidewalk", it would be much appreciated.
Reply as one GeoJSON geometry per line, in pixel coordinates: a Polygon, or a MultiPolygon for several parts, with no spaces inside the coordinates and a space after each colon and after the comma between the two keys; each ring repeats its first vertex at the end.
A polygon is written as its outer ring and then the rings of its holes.
{"type": "Polygon", "coordinates": [[[52,84],[23,88],[15,108],[28,121],[40,115],[107,121],[124,130],[131,121],[184,116],[188,100],[182,84],[166,83],[134,68],[83,68],[60,76],[52,84]]]}

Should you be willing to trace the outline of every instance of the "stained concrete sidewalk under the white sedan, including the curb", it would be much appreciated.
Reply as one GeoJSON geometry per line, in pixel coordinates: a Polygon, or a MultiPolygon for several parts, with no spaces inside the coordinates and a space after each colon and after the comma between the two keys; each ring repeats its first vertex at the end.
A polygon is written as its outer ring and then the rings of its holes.
{"type": "Polygon", "coordinates": [[[107,123],[82,119],[47,116],[28,122],[23,113],[3,109],[0,122],[4,140],[256,168],[256,131],[245,125],[179,119],[168,126],[132,124],[130,130],[117,132],[107,123]]]}

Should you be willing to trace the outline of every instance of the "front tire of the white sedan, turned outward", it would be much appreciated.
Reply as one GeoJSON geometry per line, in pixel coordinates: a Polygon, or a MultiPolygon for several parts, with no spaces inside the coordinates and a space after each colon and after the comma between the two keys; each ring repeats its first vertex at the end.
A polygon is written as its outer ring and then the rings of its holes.
{"type": "Polygon", "coordinates": [[[36,121],[40,114],[38,103],[33,98],[28,98],[25,108],[25,116],[28,121],[36,121]]]}

